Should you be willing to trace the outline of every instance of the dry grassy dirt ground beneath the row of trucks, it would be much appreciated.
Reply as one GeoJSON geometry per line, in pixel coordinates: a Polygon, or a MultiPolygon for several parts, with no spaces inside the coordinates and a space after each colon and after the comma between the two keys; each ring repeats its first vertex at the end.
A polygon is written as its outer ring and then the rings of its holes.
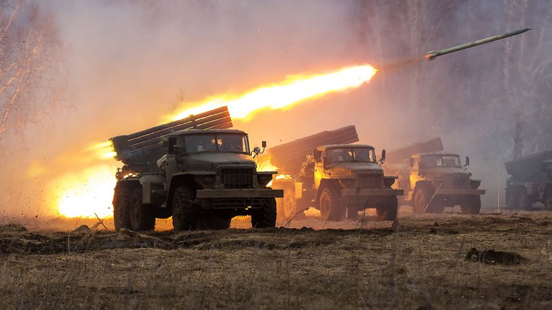
{"type": "Polygon", "coordinates": [[[368,215],[178,233],[11,219],[0,308],[552,308],[551,213],[368,215]]]}

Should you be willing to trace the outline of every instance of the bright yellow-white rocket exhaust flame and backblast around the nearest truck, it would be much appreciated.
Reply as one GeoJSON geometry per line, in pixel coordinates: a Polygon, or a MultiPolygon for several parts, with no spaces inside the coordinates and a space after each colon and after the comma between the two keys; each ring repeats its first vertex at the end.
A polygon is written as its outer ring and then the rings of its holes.
{"type": "MultiPolygon", "coordinates": [[[[281,83],[258,87],[244,94],[218,96],[198,103],[187,103],[192,108],[170,116],[170,121],[228,106],[230,116],[248,121],[261,110],[288,109],[295,103],[314,99],[324,94],[341,92],[359,87],[376,74],[371,65],[357,65],[324,74],[288,76],[281,83]]],[[[86,149],[98,159],[115,157],[110,142],[94,143],[86,149]]],[[[96,165],[77,173],[66,174],[52,183],[52,192],[57,196],[58,211],[66,217],[112,216],[111,200],[115,187],[115,168],[112,165],[96,165]]],[[[270,161],[259,164],[259,171],[276,171],[270,161]]],[[[285,176],[284,176],[285,177],[285,176]]],[[[278,176],[277,176],[278,178],[278,176]]]]}

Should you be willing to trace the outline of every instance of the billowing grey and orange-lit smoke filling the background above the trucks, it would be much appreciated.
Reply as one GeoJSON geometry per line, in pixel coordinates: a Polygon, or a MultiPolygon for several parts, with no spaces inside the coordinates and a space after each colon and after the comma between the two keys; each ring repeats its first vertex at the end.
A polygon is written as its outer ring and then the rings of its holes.
{"type": "MultiPolygon", "coordinates": [[[[60,83],[70,107],[3,134],[0,205],[51,212],[52,179],[100,163],[92,142],[157,125],[186,102],[239,94],[347,65],[385,65],[430,50],[534,26],[522,36],[382,70],[356,90],[235,121],[253,143],[277,145],[355,124],[378,149],[441,136],[469,155],[496,205],[515,154],[552,147],[547,1],[71,1],[55,12],[65,43],[60,83]],[[65,73],[66,72],[66,73],[65,73]],[[548,133],[548,134],[547,134],[548,133]],[[32,168],[32,169],[30,169],[32,168]],[[30,173],[32,172],[32,173],[30,173]],[[46,191],[46,192],[45,192],[46,191]],[[9,198],[7,198],[9,197],[9,198]]],[[[103,166],[102,166],[103,167],[103,166]]],[[[103,169],[103,168],[102,168],[103,169]]],[[[114,171],[115,174],[115,171],[114,171]]]]}

